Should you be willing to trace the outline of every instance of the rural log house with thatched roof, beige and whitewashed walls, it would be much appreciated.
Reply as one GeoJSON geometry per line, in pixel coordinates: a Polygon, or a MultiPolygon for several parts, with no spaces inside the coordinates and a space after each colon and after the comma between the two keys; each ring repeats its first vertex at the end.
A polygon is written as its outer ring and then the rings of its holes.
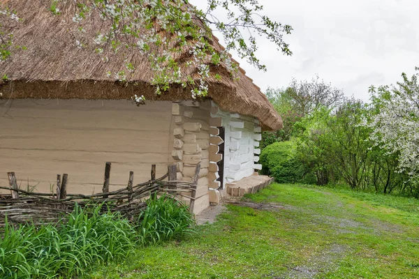
{"type": "MultiPolygon", "coordinates": [[[[69,192],[91,194],[101,190],[105,162],[112,162],[111,190],[126,186],[129,171],[135,182],[147,181],[152,164],[157,175],[177,164],[177,179],[188,181],[200,163],[198,213],[219,199],[219,190],[256,176],[260,133],[282,121],[244,70],[235,80],[222,65],[212,67],[206,98],[193,100],[179,84],[156,96],[145,57],[118,52],[104,63],[74,43],[71,12],[62,11],[62,20],[50,1],[39,2],[41,8],[8,1],[24,21],[14,42],[26,50],[0,61],[8,77],[0,80],[1,185],[8,185],[6,172],[15,172],[20,187],[45,192],[65,172],[69,192]],[[106,74],[123,61],[135,66],[126,81],[106,74]]],[[[211,42],[223,50],[215,37],[211,42]]]]}

